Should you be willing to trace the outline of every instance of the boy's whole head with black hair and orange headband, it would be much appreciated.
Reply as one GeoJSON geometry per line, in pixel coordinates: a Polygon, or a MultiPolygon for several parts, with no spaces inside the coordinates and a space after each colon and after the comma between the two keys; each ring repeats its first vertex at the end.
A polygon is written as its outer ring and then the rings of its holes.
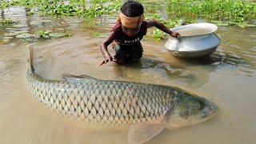
{"type": "Polygon", "coordinates": [[[129,0],[122,5],[119,21],[122,23],[122,30],[133,37],[138,34],[144,20],[144,8],[142,4],[129,0]]]}

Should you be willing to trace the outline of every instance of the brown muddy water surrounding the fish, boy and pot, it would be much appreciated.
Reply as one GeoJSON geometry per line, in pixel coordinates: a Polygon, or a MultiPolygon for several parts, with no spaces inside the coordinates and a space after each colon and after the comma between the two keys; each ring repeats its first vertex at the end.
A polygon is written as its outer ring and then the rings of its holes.
{"type": "MultiPolygon", "coordinates": [[[[150,38],[150,30],[142,40],[144,58],[141,62],[131,66],[99,66],[102,62],[99,43],[106,38],[113,20],[106,19],[104,27],[85,29],[78,19],[26,16],[26,10],[21,8],[6,10],[2,16],[20,19],[22,26],[0,30],[0,39],[18,30],[33,34],[42,29],[70,30],[74,36],[31,43],[13,38],[2,43],[1,143],[126,143],[127,130],[85,126],[83,122],[55,114],[28,94],[25,78],[28,44],[34,46],[34,66],[43,78],[61,79],[63,73],[88,74],[95,78],[178,86],[218,105],[218,114],[208,122],[164,130],[148,143],[255,143],[255,28],[219,27],[217,34],[222,44],[210,58],[199,60],[174,58],[163,47],[165,41],[150,38]],[[48,21],[29,25],[34,19],[48,21]]],[[[110,53],[114,54],[114,50],[110,49],[110,53]]]]}

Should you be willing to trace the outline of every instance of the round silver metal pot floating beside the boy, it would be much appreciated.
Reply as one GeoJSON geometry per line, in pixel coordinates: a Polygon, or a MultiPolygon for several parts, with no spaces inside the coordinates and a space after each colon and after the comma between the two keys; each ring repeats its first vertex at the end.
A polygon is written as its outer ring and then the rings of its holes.
{"type": "Polygon", "coordinates": [[[169,38],[166,49],[181,58],[199,58],[213,53],[221,40],[214,31],[217,26],[211,23],[194,23],[171,29],[181,34],[178,38],[169,38]]]}

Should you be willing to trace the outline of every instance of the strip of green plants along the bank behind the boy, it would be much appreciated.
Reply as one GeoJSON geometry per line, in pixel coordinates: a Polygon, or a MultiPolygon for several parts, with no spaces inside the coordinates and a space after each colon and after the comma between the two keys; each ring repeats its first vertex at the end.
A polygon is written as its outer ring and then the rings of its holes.
{"type": "MultiPolygon", "coordinates": [[[[145,7],[146,19],[157,19],[174,27],[192,22],[213,22],[218,26],[255,25],[256,3],[242,0],[139,0],[145,7]],[[254,25],[252,25],[254,24],[254,25]]],[[[86,19],[104,15],[118,14],[120,0],[13,0],[0,3],[0,9],[10,6],[26,6],[31,10],[38,8],[42,15],[77,16],[86,19]]],[[[155,38],[162,38],[160,31],[154,31],[155,38]]]]}

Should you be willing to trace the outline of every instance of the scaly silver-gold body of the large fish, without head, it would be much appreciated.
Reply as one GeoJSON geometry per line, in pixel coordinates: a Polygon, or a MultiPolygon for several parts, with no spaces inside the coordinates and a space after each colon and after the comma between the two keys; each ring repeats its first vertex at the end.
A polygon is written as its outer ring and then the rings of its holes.
{"type": "Polygon", "coordinates": [[[174,103],[173,90],[167,86],[93,78],[61,82],[34,73],[27,73],[26,78],[30,93],[39,102],[86,122],[121,125],[154,121],[174,103]]]}

